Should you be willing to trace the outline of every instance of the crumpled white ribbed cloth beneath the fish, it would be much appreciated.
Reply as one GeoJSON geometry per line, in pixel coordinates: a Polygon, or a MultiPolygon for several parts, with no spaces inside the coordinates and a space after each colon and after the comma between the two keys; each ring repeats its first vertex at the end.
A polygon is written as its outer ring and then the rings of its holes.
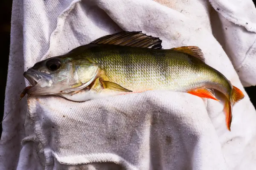
{"type": "Polygon", "coordinates": [[[256,111],[242,87],[256,85],[253,2],[157,2],[13,1],[5,112],[14,111],[3,122],[0,169],[255,169],[256,111]],[[29,85],[27,68],[122,30],[160,37],[163,48],[199,46],[206,63],[245,94],[231,132],[221,102],[180,92],[80,103],[37,96],[14,105],[29,85]]]}

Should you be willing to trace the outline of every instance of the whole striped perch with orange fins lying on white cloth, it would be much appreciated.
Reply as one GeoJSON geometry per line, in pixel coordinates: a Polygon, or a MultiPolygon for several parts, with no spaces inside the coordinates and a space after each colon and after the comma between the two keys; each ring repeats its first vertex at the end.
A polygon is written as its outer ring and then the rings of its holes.
{"type": "Polygon", "coordinates": [[[215,96],[220,92],[230,130],[232,107],[244,98],[243,92],[206,64],[198,46],[163,49],[161,43],[160,38],[141,31],[121,31],[44,59],[24,72],[32,86],[24,89],[21,98],[25,94],[55,95],[85,102],[102,96],[165,90],[220,101],[215,96]]]}

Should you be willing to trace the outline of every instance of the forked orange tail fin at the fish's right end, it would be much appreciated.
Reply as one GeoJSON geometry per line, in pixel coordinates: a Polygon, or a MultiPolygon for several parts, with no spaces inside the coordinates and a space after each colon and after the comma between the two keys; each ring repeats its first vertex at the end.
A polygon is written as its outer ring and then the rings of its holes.
{"type": "Polygon", "coordinates": [[[243,98],[244,98],[243,92],[239,88],[233,86],[230,99],[227,99],[224,105],[224,112],[226,114],[226,124],[227,124],[227,129],[229,131],[230,131],[230,126],[232,122],[231,105],[233,106],[236,102],[238,102],[243,98]]]}

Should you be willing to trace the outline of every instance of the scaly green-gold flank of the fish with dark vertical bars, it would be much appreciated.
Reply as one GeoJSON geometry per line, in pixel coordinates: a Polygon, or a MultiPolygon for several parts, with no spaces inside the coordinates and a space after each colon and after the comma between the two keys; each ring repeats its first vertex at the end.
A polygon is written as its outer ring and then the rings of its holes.
{"type": "MultiPolygon", "coordinates": [[[[110,81],[132,91],[147,89],[186,91],[200,84],[211,82],[212,77],[218,77],[218,72],[207,71],[208,65],[201,66],[200,64],[203,63],[201,60],[187,54],[180,53],[174,56],[172,51],[163,50],[159,51],[162,54],[157,57],[152,55],[152,53],[155,54],[152,51],[153,49],[149,48],[99,45],[91,48],[86,56],[100,63],[110,81]],[[117,51],[115,56],[112,54],[113,50],[117,51]],[[97,53],[90,56],[93,51],[97,53]],[[120,51],[125,51],[125,53],[121,54],[120,51]],[[198,64],[189,64],[192,60],[198,64]],[[196,76],[201,70],[205,71],[200,77],[201,81],[198,81],[196,76]]],[[[221,83],[228,84],[225,79],[219,80],[221,83]]]]}

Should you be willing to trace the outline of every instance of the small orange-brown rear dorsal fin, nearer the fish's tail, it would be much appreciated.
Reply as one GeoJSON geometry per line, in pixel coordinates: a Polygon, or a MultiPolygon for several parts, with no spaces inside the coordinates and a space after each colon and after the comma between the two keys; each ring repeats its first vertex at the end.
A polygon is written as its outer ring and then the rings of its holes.
{"type": "Polygon", "coordinates": [[[170,50],[179,51],[185,54],[189,54],[193,57],[201,59],[201,61],[205,62],[204,54],[202,50],[197,46],[182,46],[177,48],[171,48],[170,50]]]}

